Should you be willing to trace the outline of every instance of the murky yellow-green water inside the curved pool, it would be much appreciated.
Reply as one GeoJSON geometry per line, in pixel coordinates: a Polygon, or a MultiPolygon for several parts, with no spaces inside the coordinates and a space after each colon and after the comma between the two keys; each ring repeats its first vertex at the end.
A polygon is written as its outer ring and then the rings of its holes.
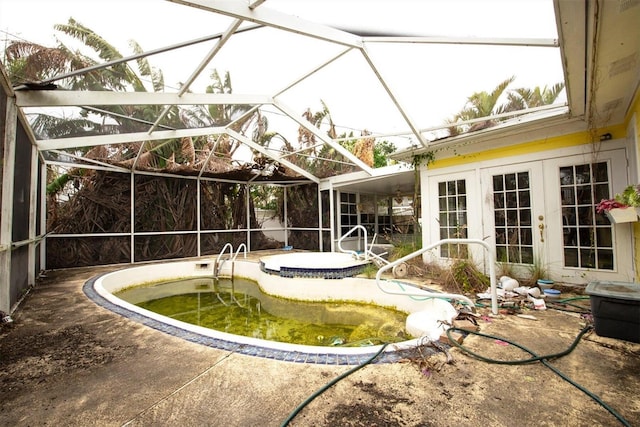
{"type": "Polygon", "coordinates": [[[146,310],[234,335],[319,346],[399,342],[406,313],[352,302],[300,302],[262,293],[235,278],[145,284],[115,294],[146,310]]]}

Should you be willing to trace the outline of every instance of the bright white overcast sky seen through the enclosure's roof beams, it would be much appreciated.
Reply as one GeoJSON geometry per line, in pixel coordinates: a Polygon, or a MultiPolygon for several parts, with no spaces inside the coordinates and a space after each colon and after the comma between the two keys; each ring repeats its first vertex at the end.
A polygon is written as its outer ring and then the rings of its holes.
{"type": "MultiPolygon", "coordinates": [[[[245,0],[239,0],[245,1],[245,0]]],[[[427,36],[557,38],[552,0],[267,0],[261,8],[334,27],[427,36]]],[[[21,38],[53,46],[54,24],[73,17],[127,56],[133,39],[151,50],[224,31],[231,20],[164,0],[2,0],[0,42],[21,38]]],[[[58,33],[59,34],[59,33],[58,33]]],[[[62,39],[65,41],[66,39],[62,39]]],[[[176,90],[213,42],[149,58],[168,91],[176,90]]],[[[234,93],[273,95],[343,50],[274,29],[234,36],[192,88],[201,91],[215,68],[229,71],[234,93]]],[[[376,71],[419,128],[442,125],[468,96],[515,76],[513,88],[563,80],[559,50],[464,45],[367,44],[376,71]]],[[[279,98],[296,112],[323,100],[343,130],[408,130],[363,56],[352,51],[279,98]]]]}

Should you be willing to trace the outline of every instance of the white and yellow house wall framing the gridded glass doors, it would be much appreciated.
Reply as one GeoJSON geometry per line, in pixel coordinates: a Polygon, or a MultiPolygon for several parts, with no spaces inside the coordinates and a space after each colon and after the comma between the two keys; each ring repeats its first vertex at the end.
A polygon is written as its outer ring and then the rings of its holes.
{"type": "MultiPolygon", "coordinates": [[[[441,227],[443,216],[442,212],[438,211],[438,204],[442,206],[443,199],[438,198],[438,185],[462,179],[467,183],[466,212],[464,213],[467,220],[466,237],[479,238],[495,244],[499,239],[494,233],[497,228],[493,227],[494,194],[490,191],[491,184],[487,185],[487,183],[495,175],[527,170],[531,172],[532,189],[534,185],[536,186],[536,190],[531,192],[531,197],[540,199],[539,205],[545,207],[544,212],[542,210],[531,212],[533,217],[531,234],[534,241],[539,240],[534,245],[536,249],[533,264],[542,262],[544,269],[549,271],[551,276],[555,275],[551,278],[568,283],[584,284],[591,280],[640,281],[639,222],[612,226],[616,261],[615,266],[610,270],[597,267],[586,268],[582,265],[571,269],[565,268],[567,265],[558,267],[558,264],[564,263],[563,255],[567,252],[560,252],[557,248],[557,243],[560,243],[560,246],[564,245],[566,240],[563,240],[562,233],[567,230],[563,227],[564,201],[559,200],[562,185],[558,180],[558,170],[562,170],[566,165],[606,162],[610,176],[611,196],[621,192],[629,184],[640,183],[638,160],[640,102],[638,98],[636,94],[635,103],[625,123],[602,127],[596,132],[572,131],[564,134],[556,132],[556,134],[532,140],[526,140],[526,135],[524,137],[518,135],[507,146],[491,148],[491,141],[486,141],[479,143],[478,148],[474,150],[466,147],[464,154],[459,152],[456,154],[455,149],[441,150],[437,153],[434,162],[420,166],[423,242],[433,243],[443,237],[443,227],[441,227]],[[611,134],[611,138],[601,141],[600,136],[607,133],[611,134]],[[439,218],[438,215],[440,215],[439,218]],[[555,227],[553,221],[555,221],[555,227]],[[550,225],[552,226],[549,227],[550,225]]],[[[440,187],[440,191],[442,188],[440,187]]],[[[593,204],[598,201],[594,200],[593,204]]],[[[461,215],[459,211],[456,212],[461,215]]],[[[469,251],[479,264],[486,264],[487,256],[481,249],[469,248],[469,251]]],[[[442,252],[427,253],[424,259],[426,262],[439,263],[450,260],[446,252],[444,256],[442,254],[442,252]]],[[[497,249],[494,256],[500,261],[497,249]]],[[[530,266],[522,264],[520,267],[520,273],[526,276],[528,274],[526,270],[530,266]]]]}

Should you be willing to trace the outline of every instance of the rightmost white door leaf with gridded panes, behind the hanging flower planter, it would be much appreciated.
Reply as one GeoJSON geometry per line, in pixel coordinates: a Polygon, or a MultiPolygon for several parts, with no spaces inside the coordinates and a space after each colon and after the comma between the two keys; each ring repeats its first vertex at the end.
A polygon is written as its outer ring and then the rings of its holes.
{"type": "Polygon", "coordinates": [[[627,185],[624,149],[543,162],[548,269],[556,280],[633,281],[631,225],[611,224],[595,206],[627,185]]]}

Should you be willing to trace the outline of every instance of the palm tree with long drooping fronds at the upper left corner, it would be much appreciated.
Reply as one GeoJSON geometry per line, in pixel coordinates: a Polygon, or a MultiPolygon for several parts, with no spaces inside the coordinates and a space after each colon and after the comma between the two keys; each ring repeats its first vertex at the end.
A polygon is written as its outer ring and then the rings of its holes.
{"type": "MultiPolygon", "coordinates": [[[[70,49],[59,40],[56,47],[14,41],[7,46],[5,55],[9,78],[15,86],[49,81],[57,76],[96,66],[101,62],[123,58],[113,45],[73,18],[70,18],[67,24],[55,25],[54,28],[83,43],[85,47],[97,54],[100,61],[80,50],[70,49]]],[[[134,53],[142,52],[135,41],[131,41],[130,45],[134,53]]],[[[163,90],[162,72],[152,68],[146,58],[139,58],[136,62],[137,70],[134,70],[129,63],[120,63],[109,68],[94,69],[81,75],[70,75],[56,80],[56,86],[69,90],[147,91],[145,79],[148,79],[152,90],[163,90]]],[[[148,129],[148,123],[152,123],[161,109],[162,107],[159,106],[83,108],[80,114],[64,120],[40,114],[34,119],[34,131],[41,132],[38,136],[42,138],[143,131],[148,129]],[[88,119],[90,114],[93,115],[93,120],[88,119]],[[98,117],[98,120],[95,117],[98,117]]],[[[166,125],[175,127],[179,124],[179,118],[174,113],[169,115],[165,122],[166,125]]]]}

